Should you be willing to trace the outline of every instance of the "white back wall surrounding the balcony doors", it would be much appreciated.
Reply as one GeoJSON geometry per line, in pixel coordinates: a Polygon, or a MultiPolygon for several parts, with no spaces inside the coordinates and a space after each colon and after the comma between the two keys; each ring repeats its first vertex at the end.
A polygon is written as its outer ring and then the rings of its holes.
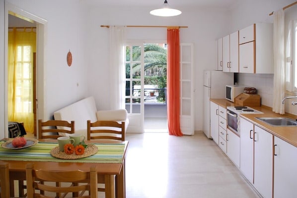
{"type": "MultiPolygon", "coordinates": [[[[108,28],[100,25],[172,25],[189,26],[180,29],[181,43],[194,44],[195,68],[195,130],[202,130],[203,70],[215,70],[216,40],[227,34],[228,12],[218,9],[183,10],[179,16],[163,18],[149,14],[147,9],[110,9],[92,7],[88,12],[88,71],[89,93],[97,99],[98,109],[109,108],[108,28]],[[99,92],[100,90],[100,92],[99,92]],[[101,93],[102,91],[102,93],[101,93]]],[[[129,39],[149,41],[167,40],[166,28],[128,28],[129,39]]]]}

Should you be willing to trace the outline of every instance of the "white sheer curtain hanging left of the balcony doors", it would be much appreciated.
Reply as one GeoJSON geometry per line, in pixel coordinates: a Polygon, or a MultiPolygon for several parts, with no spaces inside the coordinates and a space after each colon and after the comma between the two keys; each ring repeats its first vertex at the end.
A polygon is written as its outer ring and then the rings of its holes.
{"type": "Polygon", "coordinates": [[[125,108],[125,42],[126,27],[109,27],[110,99],[112,109],[125,108]]]}

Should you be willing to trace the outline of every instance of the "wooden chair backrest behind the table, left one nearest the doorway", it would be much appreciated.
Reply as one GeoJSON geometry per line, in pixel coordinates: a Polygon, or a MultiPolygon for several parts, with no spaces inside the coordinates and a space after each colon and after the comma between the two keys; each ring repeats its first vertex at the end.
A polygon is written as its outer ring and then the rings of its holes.
{"type": "Polygon", "coordinates": [[[46,122],[38,120],[38,139],[57,139],[61,137],[59,133],[73,134],[74,121],[69,123],[66,120],[48,120],[46,122]],[[59,126],[63,129],[58,129],[59,126]]]}

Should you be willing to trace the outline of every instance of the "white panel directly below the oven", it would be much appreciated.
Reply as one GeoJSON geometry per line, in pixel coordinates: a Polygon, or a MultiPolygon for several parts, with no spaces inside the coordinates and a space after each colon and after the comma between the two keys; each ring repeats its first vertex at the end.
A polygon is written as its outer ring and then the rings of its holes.
{"type": "Polygon", "coordinates": [[[231,130],[227,129],[227,155],[233,163],[239,167],[240,164],[240,138],[231,130]]]}

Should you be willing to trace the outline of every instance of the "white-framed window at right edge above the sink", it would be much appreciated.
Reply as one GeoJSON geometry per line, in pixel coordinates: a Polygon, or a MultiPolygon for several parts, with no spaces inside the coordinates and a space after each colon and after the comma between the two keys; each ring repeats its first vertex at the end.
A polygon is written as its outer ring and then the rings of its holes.
{"type": "Polygon", "coordinates": [[[288,26],[286,43],[286,90],[297,92],[297,20],[291,20],[288,26]]]}

